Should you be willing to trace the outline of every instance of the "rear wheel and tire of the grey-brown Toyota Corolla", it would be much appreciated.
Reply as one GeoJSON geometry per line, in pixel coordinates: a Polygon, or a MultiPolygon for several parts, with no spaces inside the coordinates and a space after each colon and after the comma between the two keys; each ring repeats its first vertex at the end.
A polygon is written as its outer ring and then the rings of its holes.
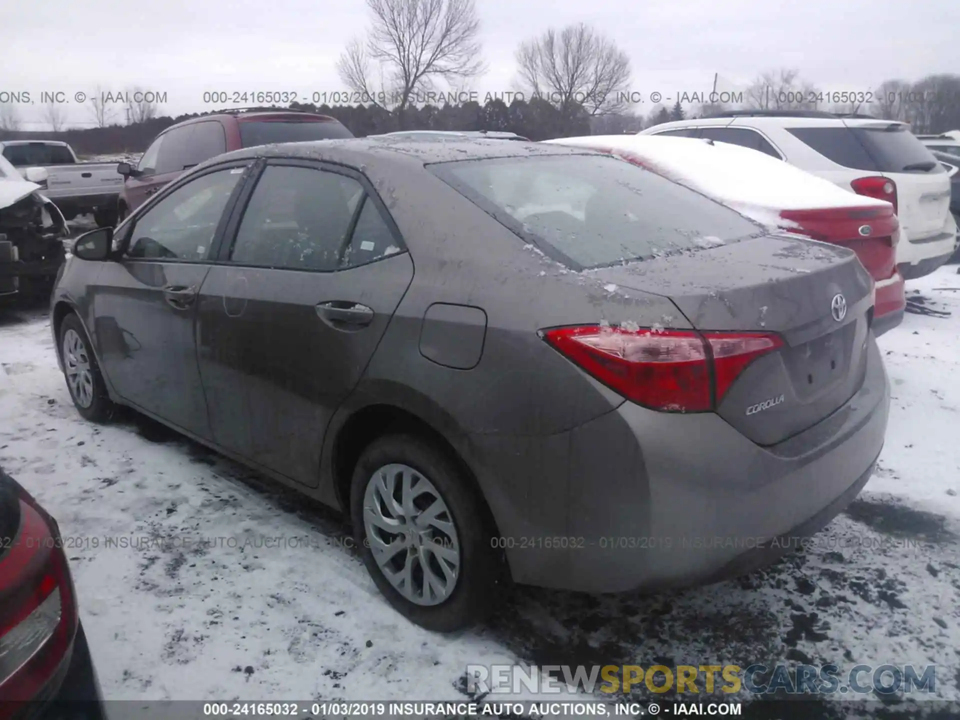
{"type": "Polygon", "coordinates": [[[420,627],[460,630],[495,606],[504,584],[482,502],[464,470],[413,435],[378,438],[357,461],[356,547],[387,601],[420,627]]]}

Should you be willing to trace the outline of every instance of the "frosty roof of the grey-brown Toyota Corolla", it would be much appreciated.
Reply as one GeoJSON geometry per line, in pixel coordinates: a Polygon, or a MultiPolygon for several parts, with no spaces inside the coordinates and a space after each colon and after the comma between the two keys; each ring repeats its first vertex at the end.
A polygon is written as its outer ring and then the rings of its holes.
{"type": "Polygon", "coordinates": [[[450,137],[434,142],[409,137],[372,135],[338,140],[313,140],[257,145],[213,157],[198,167],[248,157],[291,157],[362,165],[377,160],[430,165],[457,160],[498,157],[595,155],[582,148],[564,148],[538,142],[510,142],[473,137],[450,137]]]}

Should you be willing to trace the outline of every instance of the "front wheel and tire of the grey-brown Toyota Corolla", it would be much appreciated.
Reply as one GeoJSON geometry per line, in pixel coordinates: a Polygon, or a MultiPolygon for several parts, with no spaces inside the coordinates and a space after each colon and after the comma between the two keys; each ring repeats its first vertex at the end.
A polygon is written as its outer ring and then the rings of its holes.
{"type": "Polygon", "coordinates": [[[77,412],[84,420],[106,422],[113,417],[116,406],[107,394],[107,385],[84,325],[75,314],[63,318],[59,342],[63,376],[77,412]]]}

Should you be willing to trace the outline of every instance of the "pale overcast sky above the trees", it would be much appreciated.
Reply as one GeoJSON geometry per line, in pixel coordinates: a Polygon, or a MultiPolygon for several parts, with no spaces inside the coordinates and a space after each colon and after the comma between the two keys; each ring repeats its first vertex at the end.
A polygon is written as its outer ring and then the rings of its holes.
{"type": "MultiPolygon", "coordinates": [[[[644,98],[709,92],[713,74],[749,84],[764,70],[795,67],[821,89],[864,91],[898,78],[960,72],[960,3],[891,0],[477,0],[489,71],[472,84],[519,89],[516,45],[547,27],[583,20],[610,36],[633,61],[633,89],[644,98]]],[[[24,130],[43,130],[41,91],[70,101],[68,125],[92,125],[77,93],[97,85],[165,92],[163,114],[203,111],[204,91],[346,89],[335,63],[369,14],[362,0],[38,0],[0,11],[0,99],[29,91],[24,130]]],[[[229,104],[228,104],[229,105],[229,104]]],[[[649,100],[636,109],[649,112],[649,100]]],[[[114,117],[122,118],[117,106],[114,117]]]]}

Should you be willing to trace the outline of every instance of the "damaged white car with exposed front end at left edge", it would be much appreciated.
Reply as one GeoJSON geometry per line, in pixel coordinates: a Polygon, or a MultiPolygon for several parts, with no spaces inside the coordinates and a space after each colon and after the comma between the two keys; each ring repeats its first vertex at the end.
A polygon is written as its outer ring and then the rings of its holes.
{"type": "Polygon", "coordinates": [[[69,230],[63,214],[42,194],[46,170],[25,176],[0,157],[0,301],[20,291],[49,293],[63,263],[69,230]]]}

